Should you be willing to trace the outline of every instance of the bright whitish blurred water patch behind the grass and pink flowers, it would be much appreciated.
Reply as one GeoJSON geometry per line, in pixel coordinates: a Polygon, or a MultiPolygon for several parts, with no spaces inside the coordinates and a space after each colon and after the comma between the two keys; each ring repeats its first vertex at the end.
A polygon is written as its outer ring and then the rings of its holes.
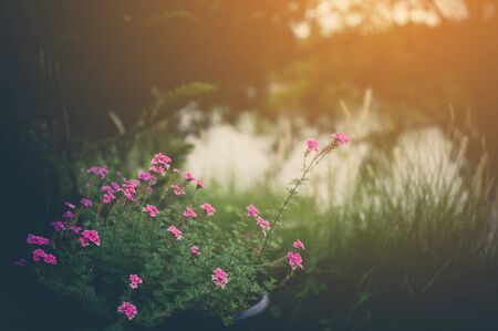
{"type": "MultiPolygon", "coordinates": [[[[323,208],[339,207],[359,194],[369,194],[361,189],[361,178],[366,173],[375,185],[382,186],[382,192],[390,193],[393,204],[409,204],[402,198],[406,197],[407,187],[412,192],[428,187],[430,192],[426,194],[435,199],[446,197],[448,192],[452,199],[465,199],[466,193],[460,188],[466,138],[454,142],[443,130],[425,126],[406,130],[394,142],[378,146],[369,137],[393,127],[369,104],[357,112],[344,107],[343,117],[331,124],[330,133],[345,132],[351,143],[318,166],[301,194],[314,196],[317,205],[323,208]]],[[[215,121],[199,136],[188,138],[195,147],[187,158],[187,168],[226,193],[261,184],[279,192],[300,175],[305,138],[314,137],[325,144],[330,133],[320,133],[299,118],[282,117],[268,124],[245,114],[234,125],[215,121]]],[[[375,204],[375,197],[362,200],[375,204]]]]}

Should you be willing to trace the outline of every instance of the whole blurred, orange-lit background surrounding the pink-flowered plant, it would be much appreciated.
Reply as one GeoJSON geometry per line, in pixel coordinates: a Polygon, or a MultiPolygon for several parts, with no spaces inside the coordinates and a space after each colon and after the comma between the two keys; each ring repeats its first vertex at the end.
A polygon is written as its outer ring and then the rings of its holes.
{"type": "MultiPolygon", "coordinates": [[[[0,6],[9,270],[90,165],[134,175],[163,151],[229,221],[278,205],[304,139],[340,130],[284,225],[307,272],[236,328],[498,328],[498,1],[0,6]]],[[[59,330],[46,300],[82,322],[28,273],[9,272],[10,323],[59,330]]]]}

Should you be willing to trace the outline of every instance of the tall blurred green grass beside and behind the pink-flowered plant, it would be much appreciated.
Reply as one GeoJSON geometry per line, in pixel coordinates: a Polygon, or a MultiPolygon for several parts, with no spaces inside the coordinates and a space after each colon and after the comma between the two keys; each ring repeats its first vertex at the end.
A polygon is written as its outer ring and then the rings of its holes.
{"type": "MultiPolygon", "coordinates": [[[[461,132],[433,126],[404,131],[387,143],[365,136],[355,142],[365,123],[383,123],[369,103],[360,120],[346,110],[340,127],[352,133],[351,146],[319,166],[299,207],[287,213],[286,236],[307,244],[307,272],[276,298],[273,316],[281,317],[276,325],[497,327],[497,205],[486,154],[470,163],[461,132]]],[[[386,127],[382,125],[377,128],[386,127]]],[[[246,177],[237,186],[241,169],[211,180],[218,189],[210,190],[209,199],[225,221],[247,201],[267,208],[280,199],[273,184],[289,176],[288,167],[299,169],[293,158],[302,149],[288,145],[287,163],[255,178],[253,185],[246,177]]]]}

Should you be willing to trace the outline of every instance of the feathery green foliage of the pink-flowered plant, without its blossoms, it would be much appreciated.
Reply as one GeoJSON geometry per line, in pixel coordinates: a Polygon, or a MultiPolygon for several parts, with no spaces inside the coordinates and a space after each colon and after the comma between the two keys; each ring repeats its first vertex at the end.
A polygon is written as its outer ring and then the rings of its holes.
{"type": "Polygon", "coordinates": [[[248,216],[221,226],[216,215],[208,216],[197,207],[204,201],[203,192],[180,174],[167,172],[157,180],[136,180],[134,200],[123,194],[123,183],[129,182],[118,173],[110,173],[105,180],[85,173],[80,183],[81,195],[94,205],[76,208],[66,229],[52,236],[59,263],[38,265],[37,273],[42,283],[77,300],[110,324],[124,321],[116,312],[122,301],[137,307],[133,323],[143,327],[162,324],[178,312],[218,316],[230,323],[234,312],[277,288],[272,273],[283,265],[271,260],[281,247],[278,234],[271,234],[267,247],[269,234],[263,236],[248,216]],[[102,203],[101,186],[113,182],[122,189],[115,190],[114,201],[102,203]],[[172,185],[185,185],[186,195],[175,195],[172,185]],[[151,204],[160,210],[156,217],[144,210],[151,204]],[[197,217],[183,216],[187,206],[196,209],[197,217]],[[180,240],[168,231],[172,225],[183,231],[180,240]],[[73,226],[96,230],[101,245],[82,247],[81,232],[74,234],[73,226]],[[190,252],[191,246],[200,248],[200,256],[190,252]],[[225,289],[211,280],[216,268],[228,272],[225,289]],[[143,279],[135,290],[128,288],[132,273],[143,279]]]}

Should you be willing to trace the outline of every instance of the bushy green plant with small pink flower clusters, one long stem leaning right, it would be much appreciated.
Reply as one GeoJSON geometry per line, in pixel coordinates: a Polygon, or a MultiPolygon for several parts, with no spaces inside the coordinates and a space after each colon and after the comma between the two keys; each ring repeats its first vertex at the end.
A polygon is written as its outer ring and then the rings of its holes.
{"type": "Polygon", "coordinates": [[[282,245],[273,229],[309,172],[346,142],[344,134],[334,134],[320,148],[309,139],[302,176],[282,206],[267,214],[249,205],[229,225],[218,224],[216,207],[203,199],[205,184],[173,168],[163,153],[132,179],[91,167],[79,206],[65,203],[50,238],[28,235],[37,275],[110,323],[152,327],[181,311],[220,316],[229,323],[234,312],[304,269],[304,244],[282,245]]]}

